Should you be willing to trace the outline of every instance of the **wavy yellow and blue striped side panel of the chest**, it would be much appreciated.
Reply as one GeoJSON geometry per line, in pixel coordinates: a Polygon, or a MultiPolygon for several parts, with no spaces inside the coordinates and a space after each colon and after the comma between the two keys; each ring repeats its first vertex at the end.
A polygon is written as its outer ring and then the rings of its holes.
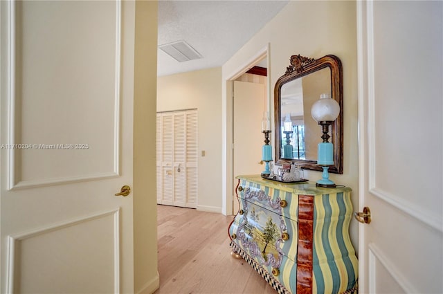
{"type": "Polygon", "coordinates": [[[350,192],[314,196],[313,293],[341,293],[357,282],[358,261],[349,236],[350,192]]]}

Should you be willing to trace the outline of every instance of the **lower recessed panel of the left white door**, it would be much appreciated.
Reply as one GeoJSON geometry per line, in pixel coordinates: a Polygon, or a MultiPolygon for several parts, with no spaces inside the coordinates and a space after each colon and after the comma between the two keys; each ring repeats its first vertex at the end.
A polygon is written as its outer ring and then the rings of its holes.
{"type": "Polygon", "coordinates": [[[19,279],[11,277],[15,293],[114,293],[119,220],[115,210],[11,236],[17,261],[10,266],[19,270],[19,279]]]}

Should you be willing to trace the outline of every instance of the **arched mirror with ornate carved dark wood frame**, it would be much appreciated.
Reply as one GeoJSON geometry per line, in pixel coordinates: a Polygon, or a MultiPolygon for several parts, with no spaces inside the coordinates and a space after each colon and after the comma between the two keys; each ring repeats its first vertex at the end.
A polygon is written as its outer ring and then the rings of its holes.
{"type": "Polygon", "coordinates": [[[340,105],[340,114],[329,129],[334,144],[334,165],[329,172],[343,174],[343,71],[334,55],[320,59],[293,55],[286,73],[275,83],[275,163],[293,162],[303,169],[322,171],[317,163],[320,125],[311,117],[311,107],[328,93],[340,105]]]}

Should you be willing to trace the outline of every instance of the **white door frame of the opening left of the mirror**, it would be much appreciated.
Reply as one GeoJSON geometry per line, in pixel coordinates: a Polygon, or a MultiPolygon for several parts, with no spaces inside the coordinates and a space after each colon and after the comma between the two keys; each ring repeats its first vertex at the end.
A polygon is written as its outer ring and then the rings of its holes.
{"type": "MultiPolygon", "coordinates": [[[[273,122],[273,111],[271,111],[271,44],[268,43],[266,46],[261,48],[255,53],[255,55],[251,56],[249,59],[244,62],[241,66],[239,66],[235,71],[226,75],[226,78],[223,80],[224,88],[224,103],[221,109],[221,118],[222,118],[222,162],[221,162],[221,213],[224,215],[233,214],[233,84],[234,80],[236,80],[240,75],[246,73],[249,69],[251,69],[255,64],[260,62],[262,59],[267,57],[267,101],[268,101],[268,111],[271,116],[271,124],[273,122]]],[[[271,125],[272,127],[272,125],[271,125]]]]}

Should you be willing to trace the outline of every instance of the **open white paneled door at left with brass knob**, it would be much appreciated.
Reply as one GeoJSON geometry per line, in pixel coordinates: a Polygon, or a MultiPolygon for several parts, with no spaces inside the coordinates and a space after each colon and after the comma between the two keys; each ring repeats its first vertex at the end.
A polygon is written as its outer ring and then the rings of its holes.
{"type": "Polygon", "coordinates": [[[120,1],[0,5],[1,292],[133,293],[134,24],[120,1]]]}

